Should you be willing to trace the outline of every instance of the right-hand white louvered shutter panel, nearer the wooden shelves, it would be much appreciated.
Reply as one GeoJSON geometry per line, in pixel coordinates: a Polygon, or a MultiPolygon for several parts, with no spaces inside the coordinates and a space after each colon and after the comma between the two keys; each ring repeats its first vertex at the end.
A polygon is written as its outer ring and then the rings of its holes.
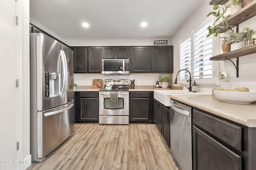
{"type": "Polygon", "coordinates": [[[193,78],[212,78],[212,36],[206,38],[209,33],[207,27],[212,22],[206,23],[193,35],[193,78]]]}

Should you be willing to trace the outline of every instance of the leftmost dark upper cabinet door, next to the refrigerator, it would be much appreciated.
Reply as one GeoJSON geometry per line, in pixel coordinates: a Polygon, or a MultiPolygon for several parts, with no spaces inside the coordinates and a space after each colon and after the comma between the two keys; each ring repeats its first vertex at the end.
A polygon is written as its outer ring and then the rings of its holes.
{"type": "Polygon", "coordinates": [[[86,72],[86,47],[74,47],[74,72],[86,72]]]}

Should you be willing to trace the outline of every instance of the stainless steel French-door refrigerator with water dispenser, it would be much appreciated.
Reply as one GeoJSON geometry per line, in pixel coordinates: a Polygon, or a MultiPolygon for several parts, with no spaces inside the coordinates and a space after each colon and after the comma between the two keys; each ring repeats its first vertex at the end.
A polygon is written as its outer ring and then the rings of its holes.
{"type": "Polygon", "coordinates": [[[74,55],[58,41],[30,33],[30,154],[42,162],[74,132],[74,55]]]}

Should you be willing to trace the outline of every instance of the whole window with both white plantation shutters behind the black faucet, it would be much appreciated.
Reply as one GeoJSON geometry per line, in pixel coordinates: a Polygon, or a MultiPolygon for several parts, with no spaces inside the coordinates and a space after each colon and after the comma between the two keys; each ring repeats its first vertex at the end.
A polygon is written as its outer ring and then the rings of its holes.
{"type": "MultiPolygon", "coordinates": [[[[212,47],[217,43],[216,38],[212,36],[206,38],[209,25],[212,25],[212,20],[205,20],[180,41],[180,70],[189,70],[192,81],[196,80],[197,84],[218,84],[218,79],[214,75],[216,65],[210,61],[210,57],[216,53],[212,47]]],[[[185,84],[186,80],[189,80],[189,73],[186,70],[180,71],[180,83],[185,84]]]]}

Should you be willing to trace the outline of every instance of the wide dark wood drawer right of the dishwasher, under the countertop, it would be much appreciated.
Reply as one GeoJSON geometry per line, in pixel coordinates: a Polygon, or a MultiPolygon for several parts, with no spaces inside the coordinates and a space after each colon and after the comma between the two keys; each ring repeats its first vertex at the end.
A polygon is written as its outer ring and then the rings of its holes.
{"type": "Polygon", "coordinates": [[[194,109],[193,123],[228,145],[242,151],[242,128],[194,109]]]}

